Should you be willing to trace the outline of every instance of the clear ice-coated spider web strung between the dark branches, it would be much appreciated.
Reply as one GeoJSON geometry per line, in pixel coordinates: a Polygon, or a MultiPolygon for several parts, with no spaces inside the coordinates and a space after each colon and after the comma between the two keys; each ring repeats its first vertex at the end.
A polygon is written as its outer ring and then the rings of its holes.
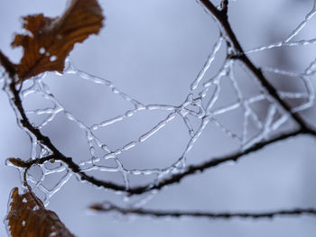
{"type": "MultiPolygon", "coordinates": [[[[311,9],[311,12],[305,16],[305,19],[300,23],[291,34],[286,37],[283,41],[276,42],[271,45],[261,46],[253,50],[246,50],[246,54],[256,53],[258,51],[269,50],[277,47],[297,47],[307,44],[312,44],[316,42],[316,39],[303,40],[303,41],[294,41],[295,36],[302,31],[303,27],[309,23],[311,18],[316,13],[315,3],[311,9]]],[[[220,29],[220,27],[219,27],[220,29]]],[[[88,144],[88,150],[90,156],[86,160],[79,163],[79,166],[82,171],[89,173],[92,170],[98,170],[99,172],[116,172],[122,175],[124,179],[125,188],[130,187],[129,175],[135,176],[149,176],[154,175],[153,184],[159,180],[166,178],[174,173],[181,172],[187,165],[187,157],[191,152],[192,148],[196,142],[200,139],[200,136],[205,132],[205,128],[209,123],[216,125],[222,132],[225,132],[228,137],[236,140],[240,144],[240,150],[246,150],[247,148],[254,145],[256,142],[267,140],[271,134],[277,131],[284,123],[290,119],[290,114],[285,112],[282,106],[278,105],[275,102],[274,98],[268,94],[265,87],[261,87],[257,82],[257,78],[252,74],[245,66],[240,62],[233,59],[224,60],[222,66],[218,69],[215,76],[209,77],[208,70],[211,67],[212,63],[216,59],[219,50],[225,48],[227,52],[230,52],[230,48],[227,45],[225,33],[222,32],[223,36],[218,38],[218,41],[215,42],[210,48],[209,57],[206,59],[204,65],[200,68],[200,71],[197,74],[197,77],[192,78],[191,86],[188,88],[188,92],[185,95],[186,99],[181,103],[181,105],[160,105],[160,104],[151,104],[146,105],[143,102],[139,101],[136,97],[137,95],[127,95],[120,88],[116,87],[113,82],[107,78],[97,77],[89,74],[86,71],[76,68],[72,64],[70,59],[66,61],[66,67],[62,75],[58,74],[60,77],[64,75],[75,75],[76,77],[88,80],[89,83],[96,84],[99,87],[109,88],[109,93],[113,93],[117,98],[123,98],[126,103],[133,106],[133,109],[125,111],[124,114],[117,114],[116,116],[93,124],[86,124],[79,120],[71,111],[64,105],[62,105],[59,99],[52,95],[50,87],[45,83],[45,77],[47,74],[43,74],[41,77],[36,77],[30,79],[27,83],[23,84],[23,87],[20,92],[22,101],[24,101],[28,96],[39,95],[42,96],[43,100],[50,101],[53,106],[46,107],[44,109],[36,109],[25,111],[26,114],[35,114],[35,115],[46,115],[46,119],[39,124],[33,124],[40,130],[44,128],[47,124],[51,123],[57,116],[57,114],[64,115],[71,123],[78,125],[79,129],[86,134],[86,140],[88,144]],[[235,75],[235,69],[242,68],[244,72],[251,77],[252,80],[256,83],[258,88],[258,93],[254,96],[245,96],[239,81],[235,75]],[[221,82],[223,79],[228,79],[231,87],[234,90],[236,95],[236,101],[228,105],[215,106],[218,102],[218,97],[222,92],[221,82]],[[257,102],[265,101],[268,104],[268,109],[266,114],[258,114],[251,105],[256,104],[257,102]],[[228,126],[218,119],[218,115],[229,114],[230,112],[241,109],[243,112],[243,122],[240,124],[242,126],[242,132],[237,134],[233,132],[228,126]],[[167,112],[168,115],[164,117],[162,121],[156,123],[150,130],[144,132],[140,136],[135,137],[132,141],[125,143],[118,149],[113,149],[107,143],[101,141],[101,139],[96,135],[96,131],[101,128],[111,126],[115,123],[119,123],[129,117],[134,116],[140,111],[162,111],[167,112]],[[180,117],[182,123],[185,124],[187,132],[190,135],[190,140],[187,142],[186,148],[181,152],[181,157],[171,158],[173,159],[172,165],[165,167],[164,169],[126,169],[120,156],[133,150],[140,143],[150,140],[157,132],[163,130],[166,124],[172,122],[175,118],[180,117]],[[192,125],[191,118],[194,117],[199,121],[200,125],[197,128],[194,128],[192,125]],[[256,126],[258,132],[255,135],[250,135],[249,132],[249,123],[253,123],[256,126]],[[104,151],[104,155],[99,155],[96,150],[101,149],[104,151]],[[112,159],[116,162],[116,167],[107,167],[104,164],[101,164],[102,160],[112,159]]],[[[297,92],[288,92],[288,91],[278,91],[279,95],[283,99],[301,99],[302,103],[293,107],[293,112],[301,112],[305,110],[314,102],[314,89],[311,85],[311,77],[315,75],[316,72],[316,58],[311,61],[310,65],[305,68],[302,72],[292,72],[283,70],[280,68],[263,68],[266,72],[272,72],[274,74],[283,75],[286,77],[296,77],[302,80],[302,83],[305,87],[304,91],[297,92]]],[[[8,84],[9,79],[5,77],[5,72],[0,71],[3,75],[0,79],[0,82],[4,83],[5,91],[9,97],[13,97],[8,84]]],[[[38,159],[46,157],[51,154],[51,150],[47,149],[42,145],[41,141],[37,141],[36,137],[32,132],[29,132],[27,129],[23,128],[23,124],[20,122],[20,116],[17,108],[12,103],[14,108],[17,122],[20,127],[28,133],[32,141],[32,152],[31,158],[38,159]]],[[[232,121],[231,123],[235,123],[232,121]]],[[[133,158],[132,158],[133,159],[133,158]]],[[[42,173],[38,178],[33,175],[32,169],[26,173],[26,178],[33,189],[41,190],[44,194],[44,203],[47,205],[51,196],[60,190],[64,184],[68,182],[71,176],[74,173],[65,165],[63,162],[56,160],[54,163],[50,161],[45,162],[42,165],[37,165],[36,169],[40,169],[42,173]],[[53,187],[46,187],[44,184],[45,179],[49,179],[51,174],[62,173],[61,178],[55,183],[53,187]]],[[[149,197],[153,192],[149,195],[149,197]]],[[[147,196],[148,198],[148,196],[147,196]]],[[[141,203],[137,205],[144,204],[146,199],[142,199],[141,203]]]]}

